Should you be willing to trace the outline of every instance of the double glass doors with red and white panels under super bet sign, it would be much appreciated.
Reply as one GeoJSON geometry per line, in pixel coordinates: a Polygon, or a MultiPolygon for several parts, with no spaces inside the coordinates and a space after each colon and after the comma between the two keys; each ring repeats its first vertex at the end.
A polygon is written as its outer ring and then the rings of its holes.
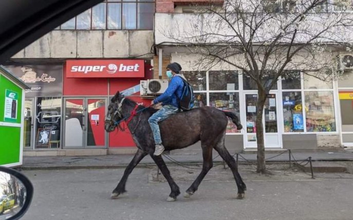
{"type": "Polygon", "coordinates": [[[65,98],[64,147],[106,147],[106,98],[65,98]]]}

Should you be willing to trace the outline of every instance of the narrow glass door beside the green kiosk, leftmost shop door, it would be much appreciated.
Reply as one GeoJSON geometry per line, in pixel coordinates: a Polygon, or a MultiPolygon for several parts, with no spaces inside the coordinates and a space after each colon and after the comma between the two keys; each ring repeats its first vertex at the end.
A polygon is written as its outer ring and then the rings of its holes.
{"type": "Polygon", "coordinates": [[[33,149],[33,125],[34,125],[34,98],[25,99],[25,112],[24,112],[24,138],[23,146],[25,149],[33,149]]]}

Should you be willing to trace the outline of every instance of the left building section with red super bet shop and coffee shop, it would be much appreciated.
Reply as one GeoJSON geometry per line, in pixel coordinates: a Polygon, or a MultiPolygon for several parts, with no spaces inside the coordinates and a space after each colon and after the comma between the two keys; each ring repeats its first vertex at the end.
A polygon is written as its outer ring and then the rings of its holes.
{"type": "Polygon", "coordinates": [[[117,92],[138,103],[152,78],[155,2],[104,1],[41,37],[6,64],[26,91],[24,155],[133,153],[127,132],[107,133],[117,92]]]}

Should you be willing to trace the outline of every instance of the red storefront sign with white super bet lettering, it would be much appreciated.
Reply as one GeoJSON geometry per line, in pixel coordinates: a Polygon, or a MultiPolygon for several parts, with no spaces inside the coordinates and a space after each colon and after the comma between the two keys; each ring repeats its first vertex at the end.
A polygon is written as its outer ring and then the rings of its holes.
{"type": "Polygon", "coordinates": [[[144,77],[144,61],[143,59],[67,60],[66,77],[144,77]]]}

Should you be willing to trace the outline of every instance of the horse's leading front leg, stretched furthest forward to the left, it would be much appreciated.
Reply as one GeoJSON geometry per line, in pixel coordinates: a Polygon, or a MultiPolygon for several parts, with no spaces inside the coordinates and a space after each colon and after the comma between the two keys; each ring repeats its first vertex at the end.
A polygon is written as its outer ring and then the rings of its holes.
{"type": "Polygon", "coordinates": [[[113,190],[111,198],[117,198],[120,194],[126,192],[125,184],[128,175],[133,171],[133,169],[140,163],[141,159],[147,155],[146,152],[138,149],[132,161],[127,165],[123,177],[121,177],[118,186],[113,190]]]}

